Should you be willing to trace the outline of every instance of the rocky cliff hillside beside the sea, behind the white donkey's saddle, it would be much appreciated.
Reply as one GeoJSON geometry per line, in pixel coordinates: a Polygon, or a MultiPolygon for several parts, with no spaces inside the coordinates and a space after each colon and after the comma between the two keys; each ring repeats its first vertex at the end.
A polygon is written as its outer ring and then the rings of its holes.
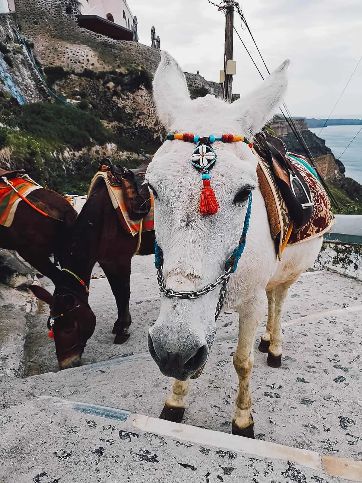
{"type": "MultiPolygon", "coordinates": [[[[346,169],[343,163],[335,158],[331,149],[325,145],[324,139],[308,129],[305,118],[294,121],[316,160],[321,174],[332,187],[334,196],[341,206],[340,213],[362,213],[362,185],[345,176],[346,169]]],[[[270,123],[270,128],[284,141],[290,151],[305,156],[304,150],[284,118],[276,116],[270,123]]]]}

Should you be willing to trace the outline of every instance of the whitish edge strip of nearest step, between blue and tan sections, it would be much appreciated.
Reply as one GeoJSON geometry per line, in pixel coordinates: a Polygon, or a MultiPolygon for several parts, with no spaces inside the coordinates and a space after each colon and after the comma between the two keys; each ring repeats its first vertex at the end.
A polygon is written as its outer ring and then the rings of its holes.
{"type": "Polygon", "coordinates": [[[198,444],[225,448],[246,455],[255,455],[266,459],[283,459],[307,468],[320,468],[320,455],[314,451],[291,448],[263,440],[251,440],[242,436],[212,431],[196,426],[172,423],[163,419],[137,414],[133,425],[142,431],[171,436],[178,440],[192,441],[198,444]]]}

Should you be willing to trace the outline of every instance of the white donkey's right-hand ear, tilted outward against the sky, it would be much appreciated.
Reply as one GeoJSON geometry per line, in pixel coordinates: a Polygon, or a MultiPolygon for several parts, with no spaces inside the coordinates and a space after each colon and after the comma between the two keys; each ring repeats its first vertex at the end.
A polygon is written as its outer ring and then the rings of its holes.
{"type": "Polygon", "coordinates": [[[285,60],[260,87],[231,104],[242,129],[250,137],[265,126],[282,101],[288,85],[288,66],[289,60],[285,60]]]}

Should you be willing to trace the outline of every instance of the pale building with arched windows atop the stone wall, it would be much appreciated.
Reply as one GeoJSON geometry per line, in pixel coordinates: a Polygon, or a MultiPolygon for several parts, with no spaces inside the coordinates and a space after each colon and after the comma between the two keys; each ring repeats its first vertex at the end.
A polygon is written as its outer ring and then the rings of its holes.
{"type": "Polygon", "coordinates": [[[133,14],[126,0],[82,0],[81,13],[97,15],[121,27],[132,29],[133,14]]]}

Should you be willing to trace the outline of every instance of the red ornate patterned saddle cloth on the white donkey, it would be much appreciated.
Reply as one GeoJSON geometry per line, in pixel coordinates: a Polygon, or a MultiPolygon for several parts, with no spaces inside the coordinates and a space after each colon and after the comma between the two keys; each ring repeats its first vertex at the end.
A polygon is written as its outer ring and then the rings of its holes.
{"type": "MultiPolygon", "coordinates": [[[[258,156],[255,151],[254,153],[258,156]]],[[[335,223],[329,198],[318,179],[316,171],[303,156],[290,152],[287,152],[287,156],[292,165],[303,176],[306,185],[310,189],[314,207],[310,221],[303,227],[293,228],[290,213],[275,182],[274,174],[265,159],[258,156],[257,174],[259,186],[265,199],[271,235],[276,242],[279,259],[281,259],[281,254],[286,246],[320,237],[323,233],[329,231],[335,223]]]]}

